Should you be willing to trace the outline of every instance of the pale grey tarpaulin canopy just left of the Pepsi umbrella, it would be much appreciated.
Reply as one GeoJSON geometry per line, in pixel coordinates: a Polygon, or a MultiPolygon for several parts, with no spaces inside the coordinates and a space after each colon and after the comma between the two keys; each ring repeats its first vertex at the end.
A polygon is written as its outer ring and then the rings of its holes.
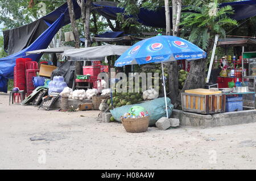
{"type": "Polygon", "coordinates": [[[104,60],[106,56],[121,55],[129,48],[130,46],[106,44],[97,47],[65,50],[63,55],[71,61],[97,61],[104,60]]]}

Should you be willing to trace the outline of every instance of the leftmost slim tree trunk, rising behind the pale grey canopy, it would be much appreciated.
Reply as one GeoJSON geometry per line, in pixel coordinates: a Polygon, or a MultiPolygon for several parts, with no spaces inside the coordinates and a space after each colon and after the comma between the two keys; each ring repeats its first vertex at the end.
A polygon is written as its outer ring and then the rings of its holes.
{"type": "MultiPolygon", "coordinates": [[[[73,2],[72,0],[67,0],[67,3],[68,3],[68,11],[69,11],[71,27],[75,36],[75,48],[80,48],[79,31],[77,30],[77,26],[76,26],[76,16],[73,8],[73,2]]],[[[75,69],[75,77],[76,77],[76,75],[81,74],[82,66],[79,61],[75,62],[75,66],[76,66],[76,69],[75,69]]],[[[74,77],[73,89],[75,89],[75,77],[74,77]]]]}

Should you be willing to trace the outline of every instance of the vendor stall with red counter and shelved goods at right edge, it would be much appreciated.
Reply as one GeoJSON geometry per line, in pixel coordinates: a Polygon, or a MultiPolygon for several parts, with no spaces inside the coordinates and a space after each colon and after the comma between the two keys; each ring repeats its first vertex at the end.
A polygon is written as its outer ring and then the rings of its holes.
{"type": "MultiPolygon", "coordinates": [[[[225,49],[225,55],[222,58],[215,56],[213,62],[213,65],[219,65],[222,68],[216,81],[218,87],[229,87],[229,82],[252,82],[249,79],[253,79],[256,76],[256,72],[254,72],[254,62],[256,61],[253,59],[256,57],[256,52],[245,52],[245,47],[256,45],[256,40],[241,37],[226,38],[218,40],[217,45],[225,49]],[[242,49],[241,52],[231,55],[227,54],[227,48],[229,47],[242,47],[242,49]]],[[[253,91],[254,87],[250,87],[250,90],[253,91]]]]}

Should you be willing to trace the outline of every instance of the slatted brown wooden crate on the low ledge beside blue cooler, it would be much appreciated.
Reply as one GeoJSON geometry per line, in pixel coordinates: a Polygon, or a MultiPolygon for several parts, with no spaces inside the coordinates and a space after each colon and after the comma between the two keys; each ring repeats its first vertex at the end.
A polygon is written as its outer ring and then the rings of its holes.
{"type": "Polygon", "coordinates": [[[199,95],[181,93],[182,110],[195,113],[220,113],[225,112],[226,95],[199,95]]]}

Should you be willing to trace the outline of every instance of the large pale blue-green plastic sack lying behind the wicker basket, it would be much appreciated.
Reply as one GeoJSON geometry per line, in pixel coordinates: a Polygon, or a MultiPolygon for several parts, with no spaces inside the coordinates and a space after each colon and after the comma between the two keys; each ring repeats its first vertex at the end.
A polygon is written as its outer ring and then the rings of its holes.
{"type": "MultiPolygon", "coordinates": [[[[171,116],[174,105],[171,104],[170,98],[166,99],[168,106],[168,115],[171,116]]],[[[155,122],[161,117],[166,117],[166,103],[164,102],[164,98],[149,100],[140,104],[121,106],[118,108],[114,108],[114,110],[110,110],[110,112],[112,113],[112,116],[115,120],[121,122],[120,117],[123,116],[126,112],[129,112],[130,108],[133,106],[141,106],[145,110],[147,110],[148,115],[150,116],[150,126],[155,125],[155,122]]]]}

